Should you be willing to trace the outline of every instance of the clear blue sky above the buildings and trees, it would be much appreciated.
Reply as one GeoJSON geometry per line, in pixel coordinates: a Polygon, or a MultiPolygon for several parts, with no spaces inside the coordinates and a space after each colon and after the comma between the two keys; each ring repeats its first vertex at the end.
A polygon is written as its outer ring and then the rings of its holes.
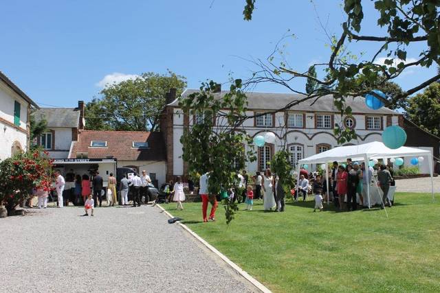
{"type": "MultiPolygon", "coordinates": [[[[371,1],[364,2],[366,14],[375,13],[371,1]]],[[[170,69],[186,76],[189,88],[198,88],[206,79],[227,82],[231,73],[249,78],[257,68],[244,59],[266,58],[287,30],[296,36],[284,42],[292,67],[305,71],[311,62],[328,60],[329,41],[318,16],[329,34],[339,34],[342,1],[257,0],[250,22],[243,21],[244,3],[5,1],[0,11],[0,71],[41,105],[76,106],[80,99],[98,97],[106,80],[147,71],[170,69]]],[[[383,34],[375,19],[367,19],[363,28],[366,34],[383,34]]],[[[374,48],[349,47],[367,56],[374,48]]],[[[408,58],[417,56],[416,51],[408,53],[408,58]]],[[[434,72],[434,67],[415,68],[395,81],[409,89],[434,72]]],[[[294,86],[302,90],[304,82],[294,86]]],[[[254,91],[287,89],[260,84],[254,91]]]]}

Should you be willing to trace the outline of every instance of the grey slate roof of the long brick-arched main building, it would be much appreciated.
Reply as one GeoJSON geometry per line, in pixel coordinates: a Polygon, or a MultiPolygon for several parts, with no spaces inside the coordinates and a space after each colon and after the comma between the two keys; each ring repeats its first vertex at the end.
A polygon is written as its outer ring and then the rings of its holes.
{"type": "MultiPolygon", "coordinates": [[[[196,93],[199,90],[197,89],[187,89],[182,93],[181,97],[187,97],[191,93],[196,93]]],[[[221,91],[214,95],[218,95],[218,97],[222,97],[228,93],[228,91],[221,91]]],[[[289,102],[293,100],[302,99],[304,95],[292,94],[292,93],[246,93],[248,96],[248,108],[252,110],[276,110],[283,108],[289,102]]],[[[337,112],[338,109],[333,106],[333,96],[325,95],[318,99],[314,105],[310,106],[310,104],[314,101],[314,99],[308,100],[306,102],[302,102],[290,110],[300,110],[307,112],[337,112]]],[[[178,106],[179,101],[175,99],[175,101],[168,106],[178,106]]],[[[382,107],[379,110],[373,110],[366,106],[364,97],[349,97],[347,98],[347,106],[351,106],[353,113],[369,113],[369,114],[390,114],[390,115],[399,115],[394,110],[382,107]]]]}

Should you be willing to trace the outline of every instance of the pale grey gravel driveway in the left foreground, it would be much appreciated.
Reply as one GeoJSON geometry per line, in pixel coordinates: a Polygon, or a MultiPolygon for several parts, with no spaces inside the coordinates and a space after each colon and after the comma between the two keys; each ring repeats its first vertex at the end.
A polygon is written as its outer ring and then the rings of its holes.
{"type": "Polygon", "coordinates": [[[0,219],[1,292],[254,292],[151,206],[0,219]]]}

